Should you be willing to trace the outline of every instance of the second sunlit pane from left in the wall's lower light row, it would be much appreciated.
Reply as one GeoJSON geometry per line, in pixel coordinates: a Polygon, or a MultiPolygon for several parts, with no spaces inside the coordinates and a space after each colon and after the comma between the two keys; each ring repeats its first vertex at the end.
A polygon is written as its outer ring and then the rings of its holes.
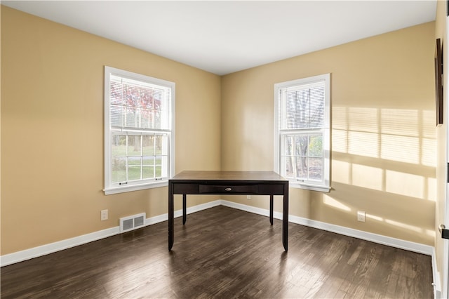
{"type": "Polygon", "coordinates": [[[352,164],[352,185],[383,190],[383,172],[381,168],[352,164]]]}

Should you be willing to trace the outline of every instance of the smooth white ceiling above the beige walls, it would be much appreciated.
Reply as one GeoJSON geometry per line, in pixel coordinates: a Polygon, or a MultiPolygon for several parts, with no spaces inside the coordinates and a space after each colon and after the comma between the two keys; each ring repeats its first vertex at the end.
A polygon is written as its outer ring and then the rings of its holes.
{"type": "Polygon", "coordinates": [[[436,0],[1,4],[220,75],[436,17],[436,0]]]}

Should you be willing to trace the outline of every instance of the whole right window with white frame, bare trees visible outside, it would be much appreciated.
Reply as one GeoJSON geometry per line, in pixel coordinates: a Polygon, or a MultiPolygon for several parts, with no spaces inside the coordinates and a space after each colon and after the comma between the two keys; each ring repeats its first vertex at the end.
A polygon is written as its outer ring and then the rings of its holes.
{"type": "Polygon", "coordinates": [[[291,187],[330,190],[330,74],[274,85],[274,171],[291,187]]]}

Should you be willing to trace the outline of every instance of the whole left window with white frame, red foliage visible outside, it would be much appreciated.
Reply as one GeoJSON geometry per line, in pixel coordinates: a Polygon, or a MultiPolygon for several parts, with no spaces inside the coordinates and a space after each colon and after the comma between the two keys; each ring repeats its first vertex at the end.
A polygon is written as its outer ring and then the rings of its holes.
{"type": "Polygon", "coordinates": [[[168,184],[174,108],[173,82],[105,67],[105,194],[168,184]]]}

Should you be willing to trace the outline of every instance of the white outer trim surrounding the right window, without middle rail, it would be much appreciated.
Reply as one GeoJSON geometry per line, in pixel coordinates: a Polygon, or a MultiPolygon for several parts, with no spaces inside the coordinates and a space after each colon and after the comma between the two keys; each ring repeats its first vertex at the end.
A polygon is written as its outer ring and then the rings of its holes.
{"type": "Polygon", "coordinates": [[[279,89],[288,86],[297,86],[302,84],[312,84],[316,81],[325,80],[325,127],[323,131],[323,140],[326,140],[327,146],[324,146],[324,164],[323,164],[323,185],[314,185],[311,183],[299,182],[297,180],[290,180],[290,187],[300,188],[305,190],[314,190],[320,192],[330,192],[330,74],[321,74],[314,77],[304,79],[296,79],[286,82],[274,84],[274,171],[281,173],[281,134],[279,133],[279,89]]]}

